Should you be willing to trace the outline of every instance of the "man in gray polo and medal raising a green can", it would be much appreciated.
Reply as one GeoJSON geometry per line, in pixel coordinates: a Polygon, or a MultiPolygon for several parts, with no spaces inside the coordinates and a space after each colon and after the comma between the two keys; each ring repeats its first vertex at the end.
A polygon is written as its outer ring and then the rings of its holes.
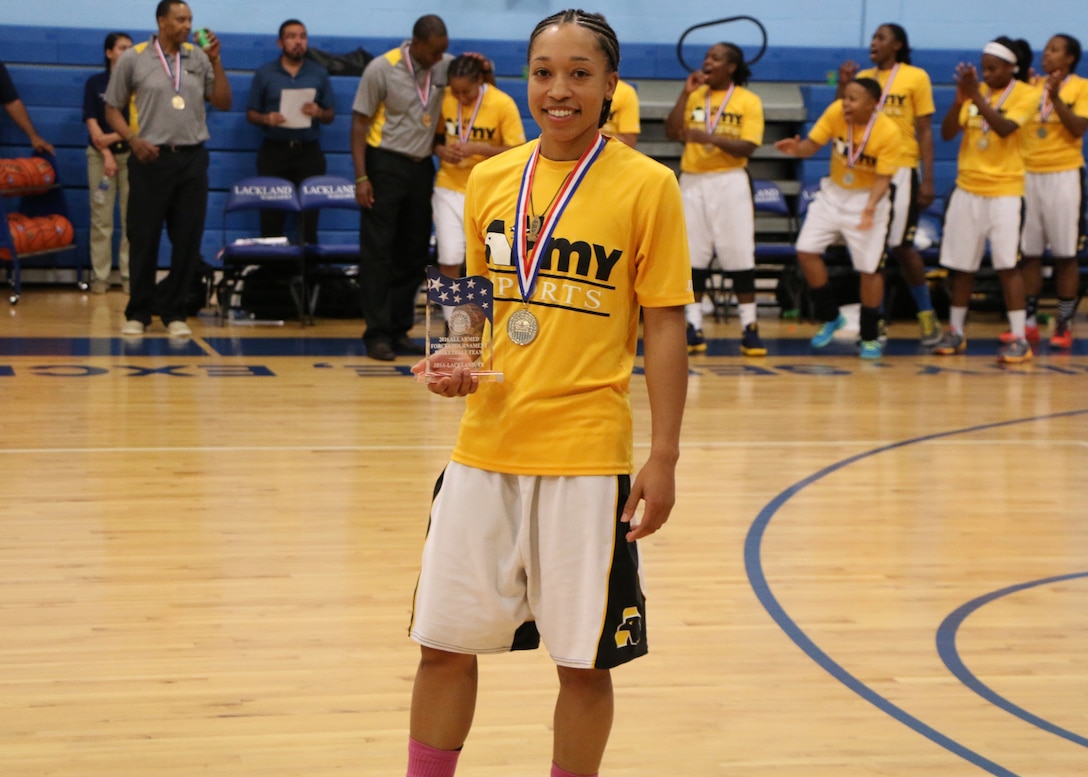
{"type": "Polygon", "coordinates": [[[225,111],[231,85],[220,44],[209,32],[206,48],[186,42],[193,12],[183,0],[156,9],[159,34],[129,49],[113,67],[106,90],[106,119],[128,141],[129,291],[122,334],[141,335],[158,314],[176,337],[193,334],[185,298],[200,261],[208,210],[208,124],[205,100],[225,111]],[[121,109],[136,97],[139,133],[121,109]],[[162,227],[172,246],[170,275],[156,288],[162,227]]]}

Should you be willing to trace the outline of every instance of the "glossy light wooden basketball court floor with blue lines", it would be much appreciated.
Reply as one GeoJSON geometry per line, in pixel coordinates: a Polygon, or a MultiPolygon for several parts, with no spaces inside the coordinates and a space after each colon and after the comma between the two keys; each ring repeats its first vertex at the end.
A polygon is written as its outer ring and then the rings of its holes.
{"type": "MultiPolygon", "coordinates": [[[[123,305],[30,288],[0,324],[0,774],[403,775],[459,403],[358,321],[132,343],[123,305]]],[[[602,774],[1088,774],[1085,344],[1002,368],[979,314],[967,355],[897,322],[862,363],[811,329],[691,360],[602,774]]],[[[543,651],[483,658],[458,774],[547,774],[555,688],[543,651]]]]}

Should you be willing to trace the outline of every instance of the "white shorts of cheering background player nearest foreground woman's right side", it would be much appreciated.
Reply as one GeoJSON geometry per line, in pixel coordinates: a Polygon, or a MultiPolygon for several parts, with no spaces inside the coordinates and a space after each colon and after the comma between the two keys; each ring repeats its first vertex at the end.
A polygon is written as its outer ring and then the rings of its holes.
{"type": "Polygon", "coordinates": [[[755,268],[755,207],[743,168],[680,176],[691,266],[706,270],[715,255],[726,272],[755,268]]]}

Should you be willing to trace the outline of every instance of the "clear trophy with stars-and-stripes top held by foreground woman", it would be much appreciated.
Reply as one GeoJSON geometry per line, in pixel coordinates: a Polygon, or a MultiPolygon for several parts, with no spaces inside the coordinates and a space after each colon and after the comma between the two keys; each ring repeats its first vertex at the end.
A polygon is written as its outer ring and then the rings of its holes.
{"type": "Polygon", "coordinates": [[[480,381],[503,380],[492,367],[493,295],[490,278],[446,278],[438,268],[426,268],[426,367],[420,380],[434,383],[456,367],[468,367],[480,381]]]}

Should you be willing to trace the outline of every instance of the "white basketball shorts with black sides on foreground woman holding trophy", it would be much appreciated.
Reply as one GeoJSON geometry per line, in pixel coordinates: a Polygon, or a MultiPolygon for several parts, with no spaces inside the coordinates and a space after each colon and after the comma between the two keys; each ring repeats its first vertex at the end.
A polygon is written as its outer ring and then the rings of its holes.
{"type": "Polygon", "coordinates": [[[452,653],[531,650],[607,669],[646,653],[628,476],[539,477],[450,462],[435,486],[410,634],[452,653]]]}

